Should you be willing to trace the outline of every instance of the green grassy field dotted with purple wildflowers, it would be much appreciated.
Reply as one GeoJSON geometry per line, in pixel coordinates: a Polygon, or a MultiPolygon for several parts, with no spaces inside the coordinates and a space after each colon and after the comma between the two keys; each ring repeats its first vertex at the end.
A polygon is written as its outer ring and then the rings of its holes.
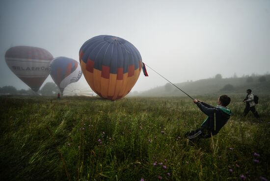
{"type": "Polygon", "coordinates": [[[242,100],[216,136],[192,143],[184,134],[206,116],[186,97],[0,97],[0,180],[270,180],[270,96],[262,123],[242,118],[242,100]]]}

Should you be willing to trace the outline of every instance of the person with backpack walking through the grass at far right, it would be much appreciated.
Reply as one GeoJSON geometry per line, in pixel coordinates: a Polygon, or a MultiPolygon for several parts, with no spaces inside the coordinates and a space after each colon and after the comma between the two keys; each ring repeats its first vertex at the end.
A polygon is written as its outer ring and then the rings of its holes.
{"type": "Polygon", "coordinates": [[[243,102],[245,103],[243,116],[245,117],[247,113],[251,110],[255,118],[260,118],[258,112],[255,109],[254,94],[251,92],[251,89],[247,89],[246,93],[247,95],[243,100],[243,102]]]}

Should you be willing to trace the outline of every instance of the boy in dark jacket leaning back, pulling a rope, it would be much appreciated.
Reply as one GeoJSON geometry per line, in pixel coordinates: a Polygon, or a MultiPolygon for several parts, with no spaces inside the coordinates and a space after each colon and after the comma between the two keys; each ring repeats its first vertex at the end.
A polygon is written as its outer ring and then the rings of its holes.
{"type": "Polygon", "coordinates": [[[227,95],[221,95],[218,97],[218,105],[216,107],[196,99],[194,99],[193,102],[197,104],[200,110],[208,117],[199,129],[191,130],[186,133],[185,136],[189,140],[194,138],[209,138],[216,135],[227,123],[232,114],[231,110],[226,107],[231,102],[231,98],[227,95]]]}

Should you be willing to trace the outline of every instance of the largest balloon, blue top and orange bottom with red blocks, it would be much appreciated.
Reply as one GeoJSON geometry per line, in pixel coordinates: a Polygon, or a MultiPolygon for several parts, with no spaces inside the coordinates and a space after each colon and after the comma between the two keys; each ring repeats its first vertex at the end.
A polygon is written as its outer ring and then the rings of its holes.
{"type": "Polygon", "coordinates": [[[91,89],[109,100],[126,96],[141,72],[141,56],[130,42],[109,35],[95,36],[80,49],[83,75],[91,89]]]}

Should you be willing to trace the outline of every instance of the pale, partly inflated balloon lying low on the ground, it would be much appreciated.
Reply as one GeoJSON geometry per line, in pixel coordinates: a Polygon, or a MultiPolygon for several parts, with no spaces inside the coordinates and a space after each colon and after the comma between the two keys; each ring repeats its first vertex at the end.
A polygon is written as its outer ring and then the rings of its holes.
{"type": "Polygon", "coordinates": [[[93,91],[91,88],[80,81],[71,83],[66,86],[63,92],[63,96],[86,96],[86,97],[92,97],[93,91]]]}

